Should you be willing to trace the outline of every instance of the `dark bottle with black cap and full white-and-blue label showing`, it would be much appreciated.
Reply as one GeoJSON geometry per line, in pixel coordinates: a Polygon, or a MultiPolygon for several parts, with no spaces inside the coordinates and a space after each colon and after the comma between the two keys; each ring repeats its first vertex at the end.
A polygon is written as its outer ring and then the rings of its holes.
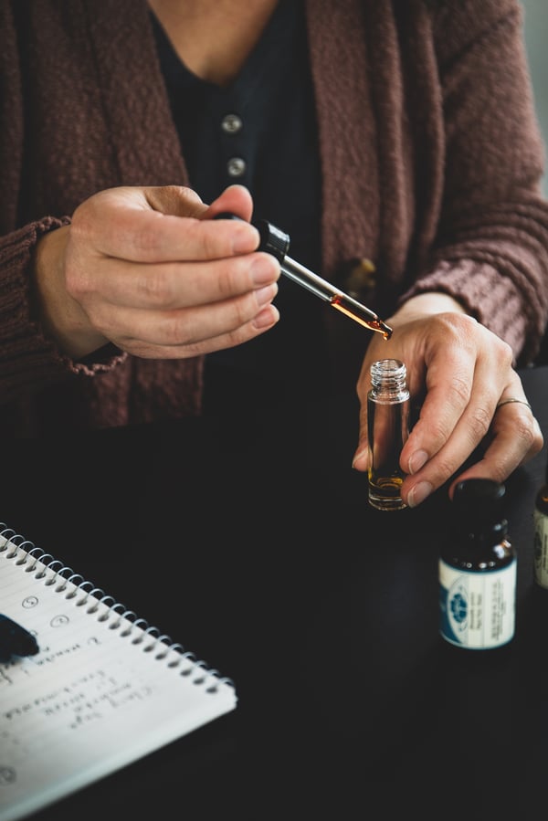
{"type": "Polygon", "coordinates": [[[439,558],[439,632],[457,647],[490,650],[514,636],[517,557],[501,513],[505,492],[491,479],[455,487],[454,534],[439,558]]]}

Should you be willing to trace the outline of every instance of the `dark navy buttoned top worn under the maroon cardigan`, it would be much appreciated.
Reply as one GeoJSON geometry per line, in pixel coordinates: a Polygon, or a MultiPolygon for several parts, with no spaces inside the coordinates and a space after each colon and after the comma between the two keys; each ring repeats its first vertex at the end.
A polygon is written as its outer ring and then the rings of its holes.
{"type": "MultiPolygon", "coordinates": [[[[190,184],[205,203],[246,185],[255,218],[290,235],[290,257],[321,273],[321,173],[308,42],[301,2],[280,0],[237,79],[220,88],[195,76],[153,17],[190,184]]],[[[328,367],[322,302],[283,275],[278,325],[258,339],[208,354],[205,409],[322,395],[328,367]]]]}

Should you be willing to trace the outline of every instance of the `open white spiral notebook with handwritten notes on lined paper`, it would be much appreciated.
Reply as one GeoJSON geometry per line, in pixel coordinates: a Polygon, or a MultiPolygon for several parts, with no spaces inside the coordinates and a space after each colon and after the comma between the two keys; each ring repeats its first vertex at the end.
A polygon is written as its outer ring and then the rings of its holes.
{"type": "Polygon", "coordinates": [[[230,679],[2,523],[0,612],[38,645],[0,663],[2,821],[236,707],[230,679]]]}

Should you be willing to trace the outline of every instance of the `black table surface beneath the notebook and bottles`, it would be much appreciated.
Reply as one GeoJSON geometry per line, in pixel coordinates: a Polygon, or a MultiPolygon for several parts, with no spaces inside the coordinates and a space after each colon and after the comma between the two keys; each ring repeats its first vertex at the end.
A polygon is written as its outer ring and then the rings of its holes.
{"type": "MultiPolygon", "coordinates": [[[[548,440],[548,367],[521,372],[548,440]]],[[[442,488],[371,509],[357,403],[5,445],[0,516],[234,679],[237,709],[38,813],[71,818],[543,818],[546,446],[507,481],[503,654],[438,636],[442,488]]]]}

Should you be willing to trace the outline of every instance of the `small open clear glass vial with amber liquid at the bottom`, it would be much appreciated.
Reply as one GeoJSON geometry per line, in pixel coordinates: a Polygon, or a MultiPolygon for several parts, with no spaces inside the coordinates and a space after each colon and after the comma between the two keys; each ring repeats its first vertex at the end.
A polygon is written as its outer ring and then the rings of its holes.
{"type": "Polygon", "coordinates": [[[401,497],[405,473],[399,458],[409,435],[409,391],[406,365],[381,359],[370,368],[367,394],[369,504],[377,510],[406,508],[401,497]]]}

